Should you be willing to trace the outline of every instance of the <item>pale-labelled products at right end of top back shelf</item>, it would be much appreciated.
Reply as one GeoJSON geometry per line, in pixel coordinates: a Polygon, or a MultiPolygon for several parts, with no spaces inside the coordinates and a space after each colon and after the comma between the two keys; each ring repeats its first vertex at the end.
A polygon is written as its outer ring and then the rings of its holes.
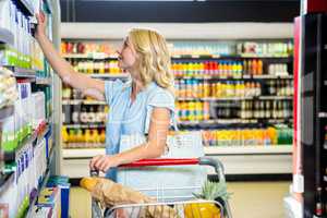
{"type": "Polygon", "coordinates": [[[237,52],[258,57],[288,57],[293,53],[293,44],[244,41],[237,45],[237,52]]]}

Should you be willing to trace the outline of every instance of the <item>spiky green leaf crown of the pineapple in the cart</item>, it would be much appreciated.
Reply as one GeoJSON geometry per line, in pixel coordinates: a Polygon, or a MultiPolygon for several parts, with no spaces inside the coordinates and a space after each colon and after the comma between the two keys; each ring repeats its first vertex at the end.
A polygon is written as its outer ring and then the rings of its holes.
{"type": "Polygon", "coordinates": [[[230,195],[231,193],[227,192],[227,184],[225,181],[219,181],[219,182],[206,181],[202,187],[202,193],[194,194],[196,198],[216,201],[217,198],[220,197],[225,202],[230,198],[230,195]]]}

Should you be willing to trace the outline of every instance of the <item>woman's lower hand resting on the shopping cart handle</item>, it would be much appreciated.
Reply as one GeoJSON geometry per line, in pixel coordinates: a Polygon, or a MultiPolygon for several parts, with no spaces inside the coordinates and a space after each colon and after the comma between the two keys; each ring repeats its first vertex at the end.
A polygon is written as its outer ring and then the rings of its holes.
{"type": "Polygon", "coordinates": [[[107,172],[110,168],[118,167],[119,161],[116,156],[98,155],[89,161],[89,168],[107,172]]]}

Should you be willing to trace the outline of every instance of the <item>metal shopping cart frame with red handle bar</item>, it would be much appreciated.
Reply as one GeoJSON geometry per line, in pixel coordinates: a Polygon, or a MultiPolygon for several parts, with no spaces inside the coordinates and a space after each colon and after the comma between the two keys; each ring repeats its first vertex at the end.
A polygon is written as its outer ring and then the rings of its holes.
{"type": "MultiPolygon", "coordinates": [[[[199,158],[157,158],[157,159],[142,159],[132,164],[121,165],[119,168],[141,168],[141,167],[158,167],[158,166],[208,166],[215,169],[218,180],[226,182],[223,165],[220,160],[199,157],[199,158]]],[[[90,177],[98,177],[99,172],[96,170],[90,170],[90,177]]],[[[220,207],[221,215],[223,218],[232,218],[229,202],[223,201],[223,205],[217,201],[186,201],[186,202],[173,202],[173,204],[192,204],[192,203],[213,203],[220,207]]],[[[107,209],[101,209],[100,205],[92,198],[92,218],[102,218],[108,217],[113,210],[122,209],[125,207],[141,207],[141,206],[164,206],[167,204],[172,204],[172,202],[164,203],[150,203],[150,204],[133,204],[133,205],[119,205],[107,209]]]]}

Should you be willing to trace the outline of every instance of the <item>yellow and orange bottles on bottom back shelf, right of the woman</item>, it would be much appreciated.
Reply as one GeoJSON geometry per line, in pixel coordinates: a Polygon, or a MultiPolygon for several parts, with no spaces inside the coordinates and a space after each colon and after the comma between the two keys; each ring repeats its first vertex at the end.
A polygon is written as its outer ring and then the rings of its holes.
{"type": "Polygon", "coordinates": [[[291,145],[292,129],[288,126],[267,129],[232,129],[203,131],[207,146],[268,146],[291,145]]]}

